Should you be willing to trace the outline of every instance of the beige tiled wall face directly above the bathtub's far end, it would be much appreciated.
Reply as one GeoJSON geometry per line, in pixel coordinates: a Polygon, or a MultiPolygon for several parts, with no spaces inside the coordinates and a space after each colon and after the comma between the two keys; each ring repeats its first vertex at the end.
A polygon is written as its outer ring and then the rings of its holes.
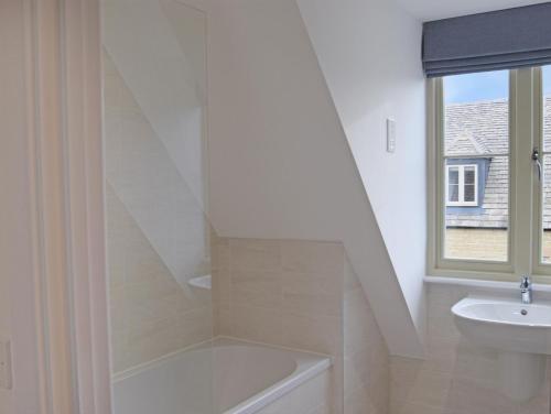
{"type": "Polygon", "coordinates": [[[218,239],[216,334],[339,355],[338,243],[218,239]]]}

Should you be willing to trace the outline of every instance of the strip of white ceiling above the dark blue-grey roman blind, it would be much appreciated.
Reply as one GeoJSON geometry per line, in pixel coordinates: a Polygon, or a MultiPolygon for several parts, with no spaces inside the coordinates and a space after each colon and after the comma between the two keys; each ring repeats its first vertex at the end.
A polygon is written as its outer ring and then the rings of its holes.
{"type": "Polygon", "coordinates": [[[545,0],[397,0],[397,2],[421,21],[429,21],[543,3],[545,0]]]}

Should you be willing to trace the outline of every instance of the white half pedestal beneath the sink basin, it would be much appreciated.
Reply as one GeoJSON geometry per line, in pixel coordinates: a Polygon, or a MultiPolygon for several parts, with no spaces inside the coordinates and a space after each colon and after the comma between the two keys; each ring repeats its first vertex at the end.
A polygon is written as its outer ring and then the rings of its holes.
{"type": "Polygon", "coordinates": [[[537,395],[545,380],[547,356],[523,352],[498,352],[501,392],[517,402],[537,395]]]}

